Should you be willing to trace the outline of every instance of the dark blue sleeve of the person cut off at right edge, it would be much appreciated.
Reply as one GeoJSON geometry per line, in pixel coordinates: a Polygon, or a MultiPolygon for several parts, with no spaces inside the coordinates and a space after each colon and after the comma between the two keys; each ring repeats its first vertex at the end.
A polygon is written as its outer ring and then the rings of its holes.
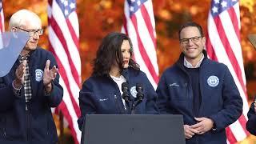
{"type": "Polygon", "coordinates": [[[250,105],[250,110],[247,114],[248,121],[246,122],[246,129],[250,134],[256,135],[256,113],[254,111],[254,102],[250,105]]]}

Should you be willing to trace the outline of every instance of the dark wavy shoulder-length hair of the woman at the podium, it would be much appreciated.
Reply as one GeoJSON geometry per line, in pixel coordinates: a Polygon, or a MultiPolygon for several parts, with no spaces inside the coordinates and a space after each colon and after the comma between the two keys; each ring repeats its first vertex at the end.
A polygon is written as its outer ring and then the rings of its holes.
{"type": "Polygon", "coordinates": [[[123,70],[122,62],[122,42],[128,40],[130,43],[130,61],[129,66],[134,68],[134,70],[139,70],[138,63],[134,62],[132,59],[133,55],[133,45],[130,38],[126,34],[122,33],[110,33],[103,38],[101,45],[98,47],[96,58],[93,60],[93,76],[103,76],[110,73],[111,66],[115,62],[118,63],[120,72],[123,70]]]}

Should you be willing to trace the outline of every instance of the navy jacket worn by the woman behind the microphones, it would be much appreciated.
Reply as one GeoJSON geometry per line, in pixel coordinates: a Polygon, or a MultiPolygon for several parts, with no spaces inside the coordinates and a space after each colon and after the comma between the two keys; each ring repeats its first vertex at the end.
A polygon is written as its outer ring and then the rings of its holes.
{"type": "MultiPolygon", "coordinates": [[[[129,83],[130,97],[134,99],[136,83],[141,83],[145,97],[136,108],[135,114],[159,114],[156,106],[157,94],[142,71],[128,68],[122,72],[129,83]],[[133,96],[131,96],[133,95],[133,96]]],[[[118,85],[110,76],[90,77],[82,85],[79,95],[79,106],[82,112],[78,126],[82,130],[86,114],[130,114],[125,110],[118,85]]]]}

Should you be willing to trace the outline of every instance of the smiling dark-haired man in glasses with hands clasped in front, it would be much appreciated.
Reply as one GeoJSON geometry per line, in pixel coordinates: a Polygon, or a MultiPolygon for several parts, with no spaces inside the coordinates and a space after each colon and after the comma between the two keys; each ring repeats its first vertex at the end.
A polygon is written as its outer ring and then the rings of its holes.
{"type": "Polygon", "coordinates": [[[207,58],[202,27],[178,31],[182,54],[158,83],[161,114],[182,114],[186,143],[226,143],[225,128],[242,114],[242,98],[224,64],[207,58]]]}

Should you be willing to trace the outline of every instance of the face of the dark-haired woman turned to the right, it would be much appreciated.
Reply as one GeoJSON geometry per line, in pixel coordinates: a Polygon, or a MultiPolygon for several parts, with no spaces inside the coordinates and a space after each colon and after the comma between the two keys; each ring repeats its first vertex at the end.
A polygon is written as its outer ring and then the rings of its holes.
{"type": "Polygon", "coordinates": [[[127,68],[129,66],[130,61],[130,43],[128,40],[124,40],[121,46],[122,52],[122,66],[123,68],[127,68]]]}

